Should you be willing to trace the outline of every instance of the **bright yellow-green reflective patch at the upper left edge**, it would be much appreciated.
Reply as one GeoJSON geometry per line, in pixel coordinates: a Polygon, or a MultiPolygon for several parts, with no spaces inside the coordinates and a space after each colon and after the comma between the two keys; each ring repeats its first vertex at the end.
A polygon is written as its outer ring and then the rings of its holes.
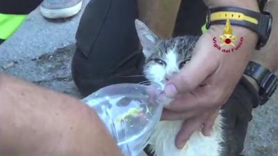
{"type": "Polygon", "coordinates": [[[8,37],[13,35],[26,18],[27,15],[10,15],[0,13],[0,39],[6,40],[8,37]]]}

